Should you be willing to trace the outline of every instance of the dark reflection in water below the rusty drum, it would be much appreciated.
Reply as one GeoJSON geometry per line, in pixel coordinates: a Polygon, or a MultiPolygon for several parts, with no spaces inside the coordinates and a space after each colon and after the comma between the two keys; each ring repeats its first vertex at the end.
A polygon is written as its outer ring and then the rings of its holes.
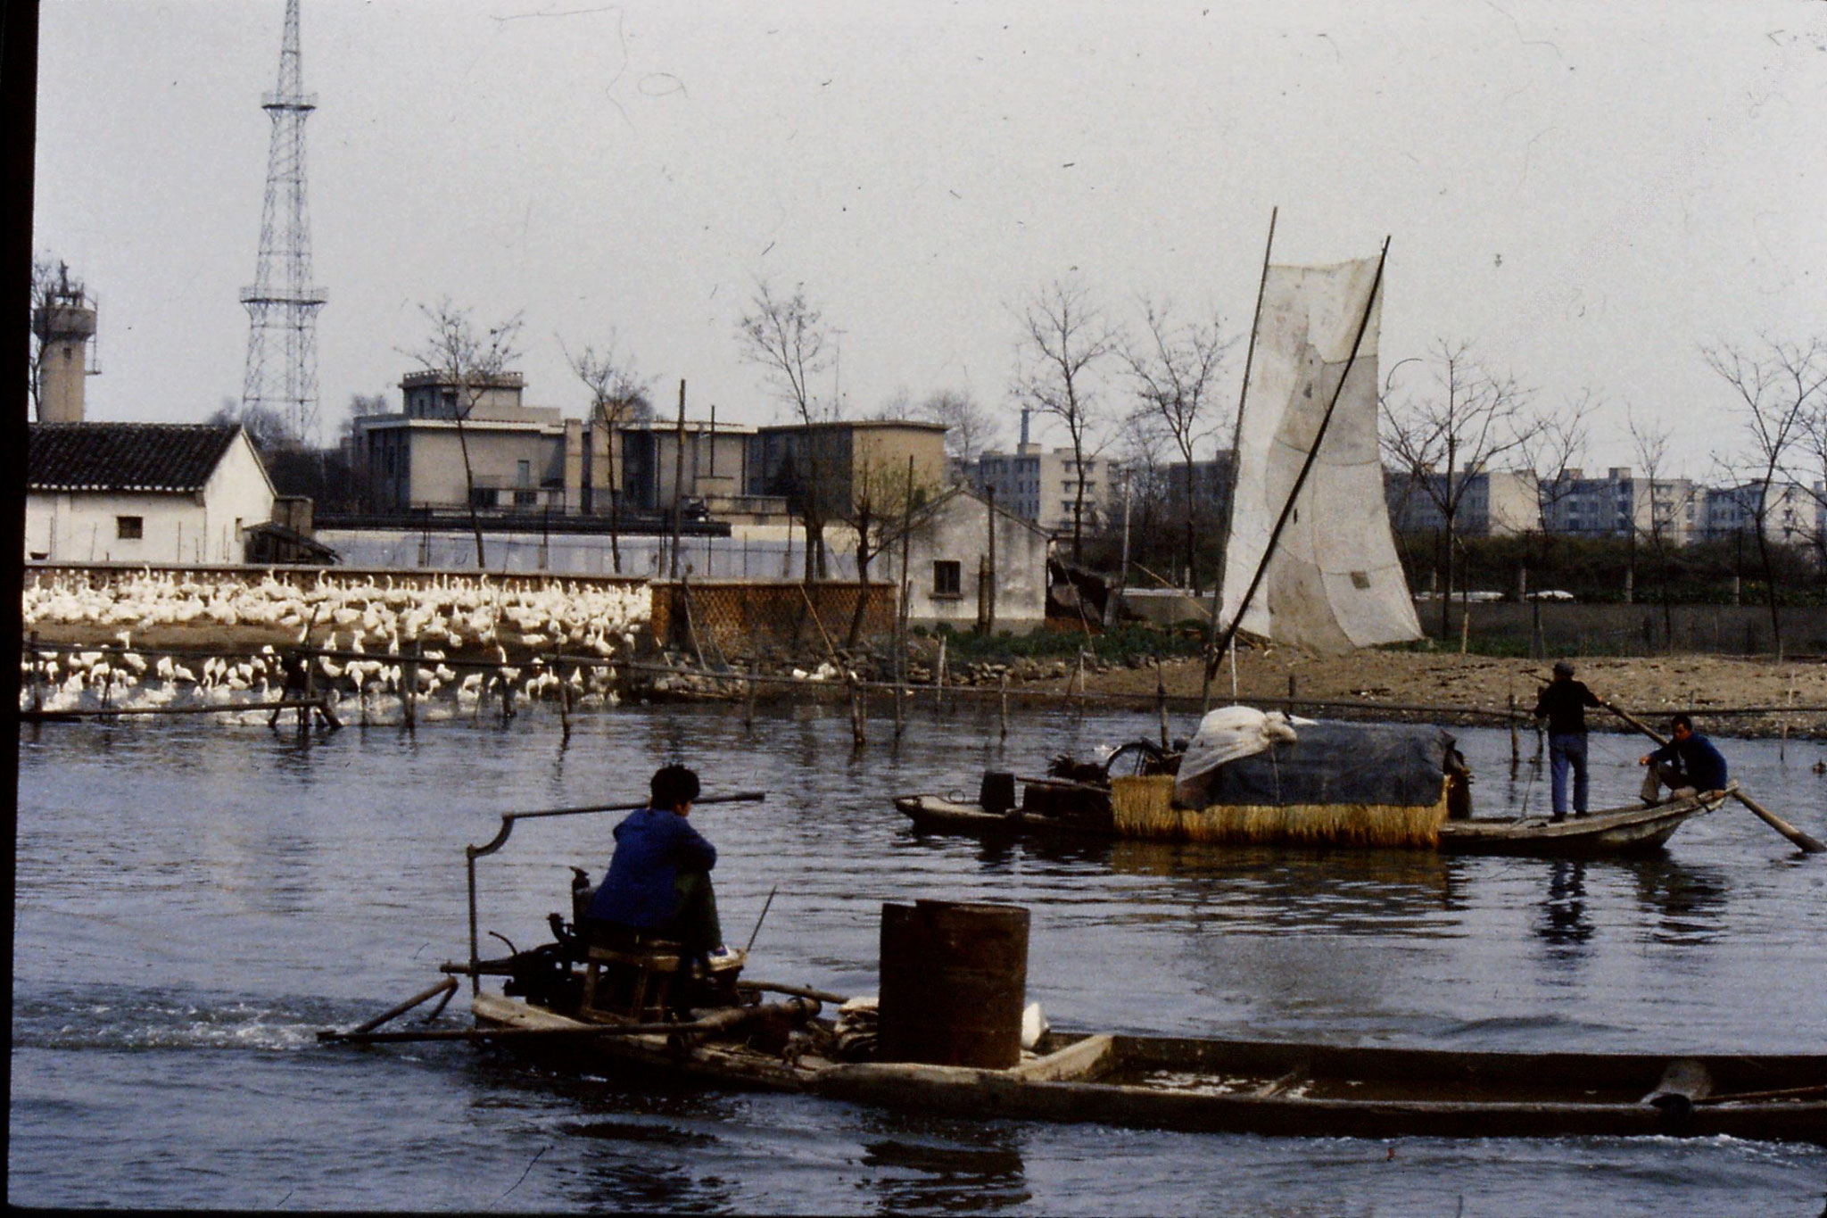
{"type": "Polygon", "coordinates": [[[862,1165],[884,1214],[985,1213],[1030,1200],[1027,1165],[1012,1129],[961,1130],[976,1145],[886,1138],[868,1143],[862,1165]]]}

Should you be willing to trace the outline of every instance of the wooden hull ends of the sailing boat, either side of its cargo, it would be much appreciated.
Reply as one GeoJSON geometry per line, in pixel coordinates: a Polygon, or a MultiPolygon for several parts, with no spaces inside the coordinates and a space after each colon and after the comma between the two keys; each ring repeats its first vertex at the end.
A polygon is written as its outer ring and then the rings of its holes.
{"type": "MultiPolygon", "coordinates": [[[[1734,783],[1736,785],[1736,783],[1734,783]]],[[[1551,820],[1547,816],[1445,820],[1438,849],[1458,855],[1540,855],[1599,858],[1653,853],[1692,816],[1719,807],[1728,796],[1692,794],[1653,807],[1641,803],[1551,820]]],[[[963,803],[935,794],[895,796],[895,809],[926,833],[1074,835],[1111,836],[1111,822],[1083,816],[1030,813],[1016,807],[992,814],[981,803],[963,803]]]]}

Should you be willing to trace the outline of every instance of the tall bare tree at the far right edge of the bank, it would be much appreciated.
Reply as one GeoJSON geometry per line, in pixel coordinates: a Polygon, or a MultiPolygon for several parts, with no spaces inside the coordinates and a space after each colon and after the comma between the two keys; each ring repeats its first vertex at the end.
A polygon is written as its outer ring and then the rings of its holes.
{"type": "Polygon", "coordinates": [[[1770,568],[1769,519],[1772,499],[1787,497],[1789,462],[1807,446],[1809,420],[1827,405],[1827,340],[1807,343],[1763,338],[1761,351],[1732,345],[1703,347],[1706,367],[1739,398],[1747,451],[1741,469],[1750,475],[1748,508],[1758,528],[1758,561],[1763,566],[1763,597],[1770,610],[1770,639],[1783,650],[1783,626],[1776,612],[1776,577],[1770,568]],[[1785,484],[1778,491],[1778,484],[1785,484]]]}

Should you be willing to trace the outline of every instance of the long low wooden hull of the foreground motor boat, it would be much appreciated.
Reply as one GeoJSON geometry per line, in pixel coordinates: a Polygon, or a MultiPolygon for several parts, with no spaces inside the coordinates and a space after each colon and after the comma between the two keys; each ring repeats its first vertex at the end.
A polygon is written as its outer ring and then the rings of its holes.
{"type": "Polygon", "coordinates": [[[795,999],[723,1032],[618,1035],[495,993],[477,1030],[603,1072],[895,1110],[1303,1138],[1732,1136],[1827,1143],[1827,1055],[1491,1054],[1049,1032],[1007,1070],[839,1061],[795,999]],[[786,1041],[755,1028],[791,1021],[786,1041]],[[526,1037],[515,1041],[515,1037],[526,1037]],[[586,1046],[586,1048],[585,1048],[586,1046]]]}

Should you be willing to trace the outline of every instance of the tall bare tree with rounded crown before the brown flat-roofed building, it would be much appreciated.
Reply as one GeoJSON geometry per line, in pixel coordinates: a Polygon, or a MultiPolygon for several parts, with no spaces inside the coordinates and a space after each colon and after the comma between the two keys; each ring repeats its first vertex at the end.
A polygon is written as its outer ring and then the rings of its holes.
{"type": "Polygon", "coordinates": [[[749,312],[736,323],[742,358],[760,365],[775,396],[804,427],[804,471],[800,475],[800,520],[806,526],[806,583],[824,572],[824,515],[829,499],[820,477],[822,458],[813,425],[837,418],[835,404],[818,400],[811,378],[829,367],[831,327],[824,314],[806,299],[806,285],[793,285],[791,296],[782,296],[767,279],[755,287],[749,312]]]}

